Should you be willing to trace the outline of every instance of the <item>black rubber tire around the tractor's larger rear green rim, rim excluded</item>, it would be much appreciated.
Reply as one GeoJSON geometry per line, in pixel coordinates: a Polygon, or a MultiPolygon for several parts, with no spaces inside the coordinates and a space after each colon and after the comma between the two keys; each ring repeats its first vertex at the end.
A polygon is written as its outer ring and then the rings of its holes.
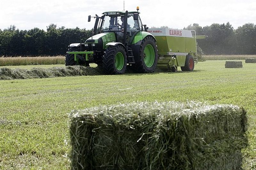
{"type": "Polygon", "coordinates": [[[138,73],[152,73],[156,70],[156,65],[157,65],[157,60],[158,60],[158,54],[157,54],[157,46],[156,46],[156,41],[151,37],[151,36],[147,36],[145,37],[141,44],[140,44],[140,49],[139,49],[139,62],[132,64],[132,70],[138,73]],[[154,63],[151,67],[147,67],[145,62],[144,62],[144,49],[145,47],[151,44],[152,47],[154,48],[154,52],[155,52],[155,59],[154,59],[154,63]]]}

